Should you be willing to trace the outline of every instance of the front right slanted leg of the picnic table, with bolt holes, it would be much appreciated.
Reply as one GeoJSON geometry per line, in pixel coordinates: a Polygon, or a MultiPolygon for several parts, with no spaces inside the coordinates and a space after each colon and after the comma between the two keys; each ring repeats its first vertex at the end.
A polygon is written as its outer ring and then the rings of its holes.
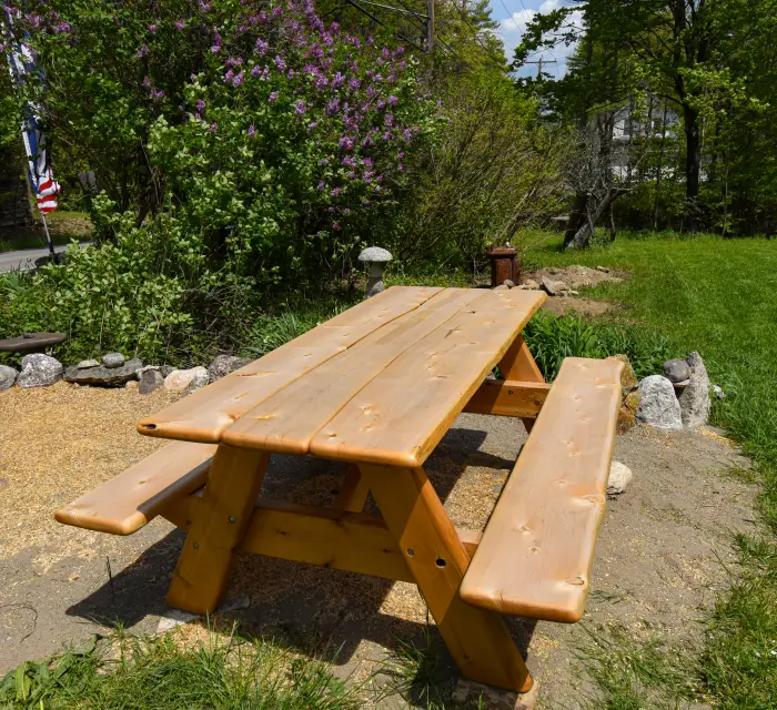
{"type": "Polygon", "coordinates": [[[502,617],[458,596],[470,556],[423,468],[360,468],[462,674],[529,690],[532,678],[502,617]]]}

